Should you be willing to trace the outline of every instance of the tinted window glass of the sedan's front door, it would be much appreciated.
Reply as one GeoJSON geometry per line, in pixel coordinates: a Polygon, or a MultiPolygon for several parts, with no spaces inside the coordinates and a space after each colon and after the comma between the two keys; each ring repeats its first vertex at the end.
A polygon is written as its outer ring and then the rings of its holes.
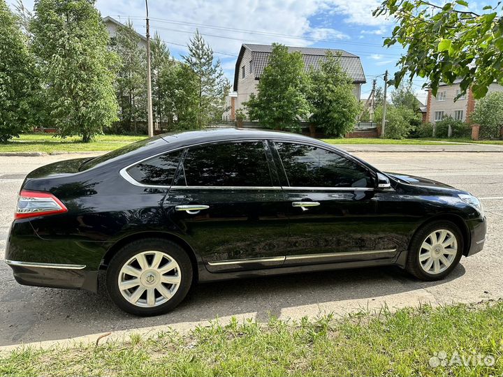
{"type": "Polygon", "coordinates": [[[362,166],[310,145],[275,143],[290,186],[369,187],[372,179],[362,166]]]}

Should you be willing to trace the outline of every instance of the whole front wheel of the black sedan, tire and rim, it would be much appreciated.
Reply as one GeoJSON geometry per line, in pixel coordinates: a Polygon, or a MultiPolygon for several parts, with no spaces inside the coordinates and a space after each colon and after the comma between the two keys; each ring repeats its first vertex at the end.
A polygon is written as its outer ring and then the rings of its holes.
{"type": "Polygon", "coordinates": [[[455,223],[444,220],[432,221],[419,228],[412,237],[405,269],[409,274],[421,280],[442,280],[458,265],[463,247],[464,239],[455,223]],[[446,232],[445,236],[443,232],[446,232]],[[432,235],[433,233],[435,235],[432,235]],[[442,236],[444,236],[444,242],[442,242],[442,236]],[[451,237],[454,237],[455,242],[444,246],[451,242],[451,237]],[[430,254],[428,254],[430,245],[430,254]],[[431,265],[428,256],[432,258],[431,265]],[[445,261],[449,263],[446,264],[445,261]]]}

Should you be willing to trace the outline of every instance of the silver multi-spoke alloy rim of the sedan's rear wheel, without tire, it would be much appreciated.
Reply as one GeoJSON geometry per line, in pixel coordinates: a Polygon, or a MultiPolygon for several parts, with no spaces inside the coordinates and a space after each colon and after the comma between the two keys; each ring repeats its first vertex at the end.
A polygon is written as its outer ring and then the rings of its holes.
{"type": "Polygon", "coordinates": [[[131,304],[154,307],[170,300],[180,287],[180,266],[162,251],[143,251],[130,258],[119,272],[119,291],[131,304]]]}

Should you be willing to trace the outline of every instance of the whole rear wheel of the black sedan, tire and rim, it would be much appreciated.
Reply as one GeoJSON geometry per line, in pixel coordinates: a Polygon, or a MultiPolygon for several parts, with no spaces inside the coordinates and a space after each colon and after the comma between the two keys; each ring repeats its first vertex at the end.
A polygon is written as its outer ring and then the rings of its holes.
{"type": "Polygon", "coordinates": [[[110,260],[106,288],[110,300],[126,313],[159,316],[182,302],[193,273],[191,260],[179,245],[162,238],[139,239],[110,260]]]}

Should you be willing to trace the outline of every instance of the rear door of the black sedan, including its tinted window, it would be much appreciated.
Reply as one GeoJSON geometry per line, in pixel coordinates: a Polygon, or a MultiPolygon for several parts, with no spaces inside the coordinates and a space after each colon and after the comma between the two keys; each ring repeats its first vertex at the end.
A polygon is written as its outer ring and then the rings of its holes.
{"type": "Polygon", "coordinates": [[[284,263],[288,206],[263,140],[187,148],[163,206],[210,272],[284,263]]]}

